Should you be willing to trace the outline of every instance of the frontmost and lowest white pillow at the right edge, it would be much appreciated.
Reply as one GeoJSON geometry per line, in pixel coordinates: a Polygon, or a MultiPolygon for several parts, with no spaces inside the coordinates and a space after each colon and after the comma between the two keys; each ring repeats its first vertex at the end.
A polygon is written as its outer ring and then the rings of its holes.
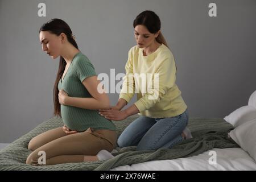
{"type": "Polygon", "coordinates": [[[230,131],[229,136],[256,162],[256,119],[243,123],[230,131]]]}

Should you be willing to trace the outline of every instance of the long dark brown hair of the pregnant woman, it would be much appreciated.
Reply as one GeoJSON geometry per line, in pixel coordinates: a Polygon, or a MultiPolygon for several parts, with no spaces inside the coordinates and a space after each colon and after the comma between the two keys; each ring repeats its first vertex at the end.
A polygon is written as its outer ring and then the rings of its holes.
{"type": "MultiPolygon", "coordinates": [[[[73,34],[71,31],[71,28],[68,26],[66,22],[64,22],[61,19],[51,19],[47,23],[44,23],[43,26],[40,28],[39,33],[41,31],[49,31],[52,34],[55,34],[59,36],[61,33],[64,33],[67,35],[68,42],[70,42],[74,47],[78,49],[77,43],[75,39],[73,39],[73,34]]],[[[54,112],[53,115],[59,115],[61,117],[60,113],[60,103],[59,103],[59,89],[58,89],[58,83],[61,79],[61,76],[64,73],[66,61],[62,56],[60,56],[60,63],[59,63],[59,69],[57,71],[57,76],[55,80],[55,84],[53,87],[53,104],[54,104],[54,112]]]]}

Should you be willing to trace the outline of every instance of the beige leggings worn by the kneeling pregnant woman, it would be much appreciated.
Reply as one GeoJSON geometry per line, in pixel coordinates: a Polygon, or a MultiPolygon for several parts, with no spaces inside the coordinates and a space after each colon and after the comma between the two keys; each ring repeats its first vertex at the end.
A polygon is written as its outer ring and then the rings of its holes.
{"type": "Polygon", "coordinates": [[[38,159],[46,154],[46,165],[84,162],[84,157],[96,155],[101,150],[111,152],[117,142],[117,133],[112,130],[88,130],[65,134],[62,127],[46,131],[30,140],[28,149],[33,152],[26,164],[39,165],[38,159]]]}

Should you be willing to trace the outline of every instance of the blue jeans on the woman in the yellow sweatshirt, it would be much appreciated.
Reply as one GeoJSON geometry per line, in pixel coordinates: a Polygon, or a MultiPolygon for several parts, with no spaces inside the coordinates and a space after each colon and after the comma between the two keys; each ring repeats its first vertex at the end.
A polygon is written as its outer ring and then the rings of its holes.
{"type": "Polygon", "coordinates": [[[188,125],[188,111],[170,118],[135,119],[117,140],[119,147],[137,146],[137,150],[171,148],[183,140],[182,131],[188,125]]]}

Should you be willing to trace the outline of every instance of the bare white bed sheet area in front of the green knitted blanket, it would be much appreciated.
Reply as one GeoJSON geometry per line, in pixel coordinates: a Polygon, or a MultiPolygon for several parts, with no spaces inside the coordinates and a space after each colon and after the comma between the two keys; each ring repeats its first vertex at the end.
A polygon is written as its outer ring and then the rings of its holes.
{"type": "Polygon", "coordinates": [[[179,158],[173,160],[154,160],[131,166],[119,166],[113,171],[166,171],[166,170],[256,170],[256,162],[242,148],[213,148],[202,154],[188,158],[179,158]],[[210,151],[216,152],[216,164],[210,164],[213,155],[210,151]]]}

